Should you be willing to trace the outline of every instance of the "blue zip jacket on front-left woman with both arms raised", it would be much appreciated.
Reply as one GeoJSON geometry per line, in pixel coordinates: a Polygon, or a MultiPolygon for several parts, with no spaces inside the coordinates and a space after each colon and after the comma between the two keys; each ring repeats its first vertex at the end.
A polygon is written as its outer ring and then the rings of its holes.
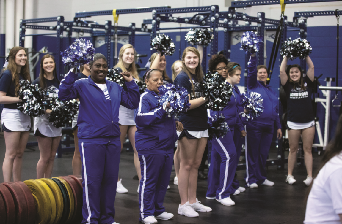
{"type": "Polygon", "coordinates": [[[139,87],[132,80],[126,83],[128,91],[117,83],[105,79],[110,100],[106,100],[103,91],[91,76],[76,80],[77,75],[71,71],[61,81],[58,98],[63,101],[77,99],[80,101],[77,119],[78,138],[80,142],[109,141],[120,137],[119,106],[129,109],[139,107],[139,87]]]}

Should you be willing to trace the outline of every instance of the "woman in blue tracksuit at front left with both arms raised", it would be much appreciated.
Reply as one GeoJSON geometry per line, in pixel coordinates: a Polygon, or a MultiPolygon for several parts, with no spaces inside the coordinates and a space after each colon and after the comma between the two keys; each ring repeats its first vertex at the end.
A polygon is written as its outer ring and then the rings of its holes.
{"type": "Polygon", "coordinates": [[[91,75],[77,79],[69,71],[61,81],[58,98],[79,99],[78,146],[82,158],[83,220],[85,223],[113,224],[114,201],[120,161],[119,106],[139,106],[139,87],[129,72],[122,72],[127,91],[108,81],[107,59],[95,54],[89,65],[91,75]]]}

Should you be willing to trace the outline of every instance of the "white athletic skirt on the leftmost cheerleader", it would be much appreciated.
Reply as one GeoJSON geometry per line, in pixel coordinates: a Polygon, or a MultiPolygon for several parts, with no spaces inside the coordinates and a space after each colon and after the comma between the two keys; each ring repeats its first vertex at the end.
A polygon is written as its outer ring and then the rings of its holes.
{"type": "Polygon", "coordinates": [[[1,124],[14,132],[26,132],[31,128],[31,118],[22,111],[3,108],[1,113],[1,124]]]}

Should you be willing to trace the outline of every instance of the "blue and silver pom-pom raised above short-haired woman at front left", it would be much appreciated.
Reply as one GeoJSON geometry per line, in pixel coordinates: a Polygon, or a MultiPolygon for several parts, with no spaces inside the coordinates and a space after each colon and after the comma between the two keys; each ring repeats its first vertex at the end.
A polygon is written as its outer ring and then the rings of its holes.
{"type": "Polygon", "coordinates": [[[61,52],[63,63],[75,67],[88,64],[94,60],[94,54],[93,44],[86,39],[75,40],[64,52],[61,52]]]}

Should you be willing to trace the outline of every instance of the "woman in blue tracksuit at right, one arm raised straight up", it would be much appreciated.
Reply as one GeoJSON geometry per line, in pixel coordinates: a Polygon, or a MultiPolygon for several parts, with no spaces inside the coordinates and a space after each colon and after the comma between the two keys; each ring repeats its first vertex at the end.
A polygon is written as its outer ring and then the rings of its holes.
{"type": "Polygon", "coordinates": [[[246,126],[246,185],[257,188],[258,184],[273,186],[274,182],[266,179],[266,160],[271,147],[274,125],[277,137],[281,138],[281,124],[278,115],[278,97],[267,84],[267,68],[257,67],[257,57],[252,54],[248,62],[248,91],[260,93],[264,111],[260,117],[250,120],[246,126]]]}

